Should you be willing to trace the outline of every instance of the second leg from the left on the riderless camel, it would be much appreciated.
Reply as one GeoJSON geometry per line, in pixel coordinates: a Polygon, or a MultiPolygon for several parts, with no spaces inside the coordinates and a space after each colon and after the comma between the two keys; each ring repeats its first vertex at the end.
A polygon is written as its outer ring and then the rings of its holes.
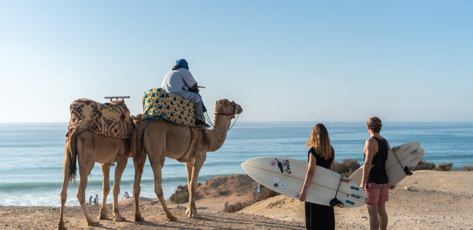
{"type": "Polygon", "coordinates": [[[96,226],[98,222],[92,221],[86,206],[86,187],[88,181],[88,175],[90,171],[94,168],[95,164],[95,151],[93,149],[87,149],[88,146],[77,145],[78,149],[78,160],[79,160],[79,189],[77,191],[77,199],[79,200],[79,204],[82,207],[82,211],[84,211],[84,215],[86,216],[86,221],[88,226],[96,226]],[[87,150],[86,150],[87,149],[87,150]],[[82,153],[82,154],[80,154],[82,153]]]}

